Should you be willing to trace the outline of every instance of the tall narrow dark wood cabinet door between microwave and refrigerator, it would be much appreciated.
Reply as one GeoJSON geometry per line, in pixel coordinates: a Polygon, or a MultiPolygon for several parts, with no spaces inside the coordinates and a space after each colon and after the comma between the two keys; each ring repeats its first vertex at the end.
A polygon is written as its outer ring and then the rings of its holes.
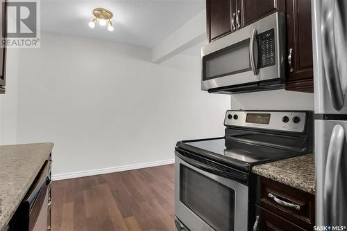
{"type": "Polygon", "coordinates": [[[313,92],[311,0],[287,1],[287,41],[291,61],[288,57],[286,89],[295,91],[304,84],[305,92],[313,92]]]}

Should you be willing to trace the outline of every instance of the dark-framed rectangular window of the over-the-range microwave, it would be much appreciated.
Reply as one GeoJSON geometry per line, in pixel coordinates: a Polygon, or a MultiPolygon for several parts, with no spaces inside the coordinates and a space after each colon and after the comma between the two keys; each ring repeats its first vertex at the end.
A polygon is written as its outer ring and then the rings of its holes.
{"type": "Polygon", "coordinates": [[[249,39],[203,57],[203,80],[251,71],[249,39]]]}

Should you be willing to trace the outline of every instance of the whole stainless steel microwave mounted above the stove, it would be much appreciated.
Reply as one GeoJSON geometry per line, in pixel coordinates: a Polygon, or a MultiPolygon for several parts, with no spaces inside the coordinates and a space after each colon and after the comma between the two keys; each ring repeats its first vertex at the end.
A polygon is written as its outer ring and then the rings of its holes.
{"type": "Polygon", "coordinates": [[[275,12],[201,48],[201,89],[244,93],[285,87],[285,15],[275,12]]]}

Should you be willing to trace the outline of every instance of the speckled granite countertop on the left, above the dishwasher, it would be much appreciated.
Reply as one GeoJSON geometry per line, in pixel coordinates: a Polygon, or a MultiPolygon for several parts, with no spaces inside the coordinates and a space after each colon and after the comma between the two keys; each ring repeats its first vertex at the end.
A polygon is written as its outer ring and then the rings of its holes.
{"type": "Polygon", "coordinates": [[[53,149],[53,143],[0,146],[0,230],[17,210],[53,149]]]}

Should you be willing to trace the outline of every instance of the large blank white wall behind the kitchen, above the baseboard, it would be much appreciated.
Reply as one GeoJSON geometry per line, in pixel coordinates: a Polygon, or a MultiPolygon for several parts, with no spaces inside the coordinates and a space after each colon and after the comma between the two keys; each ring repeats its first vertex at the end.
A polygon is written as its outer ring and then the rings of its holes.
{"type": "Polygon", "coordinates": [[[172,160],[178,140],[223,136],[230,96],[200,90],[199,59],[158,65],[135,46],[41,41],[19,54],[17,142],[54,142],[53,175],[172,160]]]}

